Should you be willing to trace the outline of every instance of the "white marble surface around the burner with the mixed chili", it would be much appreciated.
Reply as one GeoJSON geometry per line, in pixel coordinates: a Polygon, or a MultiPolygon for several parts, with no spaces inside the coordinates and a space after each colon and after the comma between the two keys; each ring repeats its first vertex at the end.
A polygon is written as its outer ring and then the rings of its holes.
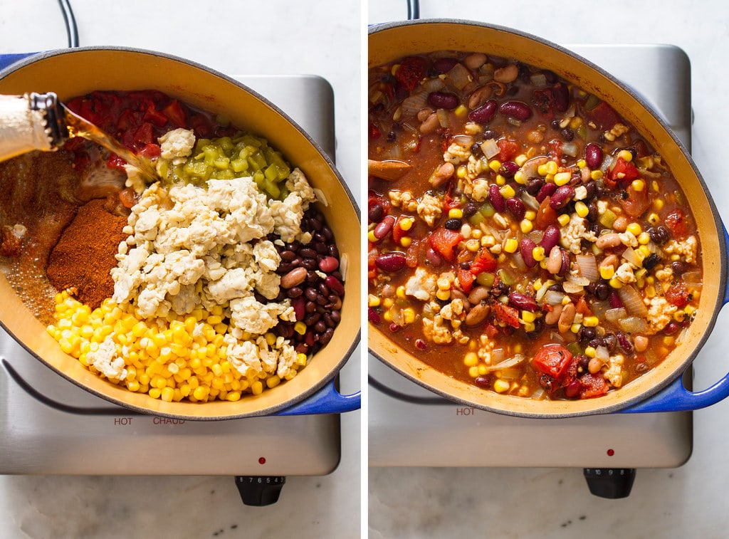
{"type": "MultiPolygon", "coordinates": [[[[370,0],[368,9],[368,23],[402,20],[407,13],[405,1],[370,0]]],[[[421,0],[421,18],[483,20],[558,43],[682,47],[692,62],[693,155],[728,222],[725,2],[421,0]]],[[[722,311],[696,360],[695,389],[728,371],[728,324],[722,311]]],[[[694,449],[687,464],[638,470],[631,496],[624,500],[591,496],[582,470],[370,468],[370,538],[726,538],[728,411],[726,401],[695,411],[694,449]]]]}

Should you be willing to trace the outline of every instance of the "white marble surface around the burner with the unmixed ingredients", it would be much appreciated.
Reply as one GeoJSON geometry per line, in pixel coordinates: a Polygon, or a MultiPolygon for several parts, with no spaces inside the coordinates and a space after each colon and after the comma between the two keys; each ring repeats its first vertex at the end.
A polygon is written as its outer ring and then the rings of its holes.
{"type": "MultiPolygon", "coordinates": [[[[352,185],[359,182],[358,2],[71,0],[71,5],[82,45],[159,50],[231,76],[324,77],[335,93],[338,168],[352,185]]],[[[0,0],[0,53],[65,46],[57,2],[0,0]]],[[[359,389],[360,365],[353,357],[343,368],[343,392],[359,389]]],[[[359,411],[342,417],[342,459],[334,473],[287,478],[279,502],[265,508],[244,506],[228,476],[0,476],[0,537],[359,537],[361,417],[359,411]]]]}

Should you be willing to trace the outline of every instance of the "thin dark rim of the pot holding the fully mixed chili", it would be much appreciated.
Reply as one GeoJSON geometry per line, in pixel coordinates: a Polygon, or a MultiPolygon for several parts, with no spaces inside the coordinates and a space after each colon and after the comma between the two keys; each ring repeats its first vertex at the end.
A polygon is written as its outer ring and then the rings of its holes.
{"type": "MultiPolygon", "coordinates": [[[[418,376],[414,376],[412,373],[404,371],[402,368],[399,368],[399,366],[394,365],[393,362],[386,359],[385,354],[376,352],[373,350],[373,348],[369,347],[370,354],[373,354],[374,357],[376,357],[378,360],[383,362],[385,365],[387,365],[389,368],[393,369],[397,373],[401,374],[402,376],[405,376],[405,378],[409,379],[410,381],[415,382],[416,384],[420,385],[421,387],[424,387],[425,389],[429,389],[430,391],[434,392],[437,395],[440,395],[444,398],[447,398],[448,400],[451,400],[455,403],[464,405],[464,406],[473,406],[475,408],[480,408],[486,411],[493,411],[499,414],[504,415],[510,415],[510,416],[521,416],[521,417],[533,417],[533,418],[541,418],[541,419],[561,419],[561,418],[567,418],[567,417],[575,417],[575,416],[585,416],[585,415],[597,415],[597,414],[610,414],[617,411],[623,411],[625,408],[629,408],[631,406],[634,406],[638,403],[642,403],[644,400],[647,400],[648,398],[651,398],[652,396],[658,394],[663,389],[666,389],[671,383],[673,383],[675,380],[677,380],[680,376],[683,376],[683,373],[685,372],[686,368],[688,368],[693,360],[695,360],[695,357],[698,355],[698,352],[700,352],[703,345],[706,343],[706,340],[709,338],[710,333],[712,332],[714,325],[716,324],[717,317],[719,314],[719,311],[721,310],[722,306],[724,305],[724,299],[722,297],[723,294],[725,294],[725,290],[727,287],[727,236],[725,233],[725,228],[722,224],[722,221],[720,219],[719,212],[717,210],[717,206],[714,203],[714,200],[712,198],[711,193],[709,193],[709,190],[706,186],[706,182],[704,182],[703,177],[701,176],[700,171],[698,171],[698,167],[695,165],[695,162],[693,161],[693,157],[690,155],[690,152],[688,152],[685,145],[678,139],[676,134],[671,130],[671,128],[666,124],[666,121],[663,120],[662,117],[656,112],[650,104],[648,104],[642,96],[640,96],[638,93],[636,93],[633,88],[631,88],[628,85],[625,85],[624,82],[617,79],[617,77],[613,76],[612,74],[609,74],[607,71],[602,69],[601,67],[597,66],[595,63],[588,61],[586,58],[583,58],[577,53],[572,52],[572,50],[566,49],[565,47],[562,47],[561,45],[555,44],[553,42],[550,42],[546,39],[543,39],[539,36],[535,36],[534,34],[529,34],[527,32],[515,30],[514,28],[509,28],[506,26],[499,26],[494,25],[490,23],[482,23],[475,20],[463,20],[463,19],[451,19],[451,18],[433,18],[433,19],[418,19],[418,20],[406,20],[406,21],[396,21],[396,22],[390,22],[390,23],[382,23],[378,25],[370,26],[368,34],[371,38],[372,36],[375,36],[376,34],[381,34],[382,32],[391,31],[391,30],[402,30],[405,31],[407,28],[410,27],[418,27],[418,26],[434,26],[434,25],[450,25],[450,26],[472,26],[477,28],[483,28],[484,30],[488,31],[498,31],[503,32],[506,34],[512,34],[513,36],[516,36],[521,39],[527,39],[537,46],[540,47],[548,47],[550,49],[553,49],[557,51],[558,53],[561,53],[563,55],[567,55],[571,57],[574,61],[582,63],[584,66],[587,66],[588,69],[591,69],[592,71],[595,71],[599,76],[606,78],[609,80],[609,82],[612,82],[613,85],[615,85],[617,88],[619,88],[621,91],[628,94],[628,96],[636,102],[640,106],[642,110],[647,112],[648,115],[650,115],[651,119],[655,121],[655,123],[658,123],[660,126],[662,132],[660,133],[660,136],[668,136],[668,138],[671,140],[671,142],[674,144],[675,147],[679,150],[681,156],[683,159],[686,160],[688,166],[690,166],[691,170],[693,171],[693,174],[695,175],[695,179],[698,181],[699,185],[701,186],[703,190],[703,194],[706,197],[706,201],[709,204],[709,209],[712,215],[712,222],[713,227],[712,230],[709,230],[709,236],[711,236],[712,239],[717,239],[717,249],[719,250],[720,255],[720,275],[719,275],[719,286],[717,287],[716,291],[716,298],[712,302],[713,303],[713,309],[712,314],[710,317],[706,320],[706,325],[704,325],[701,328],[701,337],[698,338],[696,341],[695,346],[693,349],[685,353],[685,357],[681,361],[678,362],[678,365],[674,368],[672,373],[670,373],[669,376],[664,376],[663,379],[660,379],[658,383],[653,384],[651,387],[645,389],[644,391],[640,392],[638,395],[634,395],[631,398],[625,398],[620,399],[616,403],[606,404],[605,406],[599,406],[596,408],[588,408],[584,410],[575,410],[575,411],[565,411],[565,412],[532,412],[532,411],[515,411],[510,408],[502,408],[497,406],[489,406],[488,404],[483,403],[477,403],[473,400],[469,400],[468,398],[461,397],[459,395],[454,395],[451,392],[447,392],[443,389],[439,389],[436,387],[432,387],[431,384],[429,384],[427,381],[424,381],[422,379],[419,379],[418,376]]],[[[422,50],[421,53],[428,53],[428,52],[434,52],[435,50],[448,50],[448,46],[442,47],[441,49],[436,48],[429,48],[429,50],[422,50]]],[[[485,49],[488,47],[484,47],[485,49]]],[[[400,54],[399,56],[404,55],[405,53],[400,54]]],[[[394,58],[399,58],[399,56],[394,55],[394,58]]],[[[368,63],[368,68],[378,65],[378,63],[374,63],[370,65],[368,63]]],[[[570,77],[564,76],[564,78],[569,79],[570,77]]],[[[620,110],[618,110],[620,112],[620,110]]],[[[623,115],[621,113],[621,115],[623,115]]],[[[683,185],[682,185],[683,187],[683,185]]],[[[693,210],[693,208],[692,208],[693,210]]],[[[704,230],[701,230],[701,238],[702,238],[702,244],[705,241],[706,234],[704,233],[704,230]]],[[[702,271],[706,271],[706,268],[703,268],[702,271]]],[[[373,327],[368,322],[368,330],[380,333],[381,336],[387,340],[387,337],[384,333],[382,333],[378,328],[373,327]]],[[[392,345],[394,347],[394,344],[392,345]]],[[[398,347],[399,348],[399,347],[398,347]]],[[[402,349],[400,349],[401,352],[402,349]]],[[[408,352],[405,352],[406,355],[410,356],[408,352]]],[[[425,364],[423,364],[425,365],[425,364]]],[[[426,368],[429,368],[426,365],[426,368]]],[[[650,371],[649,371],[650,372],[650,371]]],[[[440,373],[441,376],[446,376],[443,373],[440,373]]],[[[645,375],[643,375],[645,376],[645,375]]],[[[464,384],[465,386],[465,384],[464,384]]],[[[621,388],[622,389],[622,388],[621,388]]],[[[619,392],[621,389],[617,389],[619,392]]],[[[521,397],[513,397],[511,395],[507,395],[509,398],[514,399],[523,399],[521,397]]],[[[600,398],[594,399],[599,400],[600,398]]],[[[573,402],[573,401],[569,401],[573,402]]],[[[580,401],[574,401],[576,403],[579,403],[580,401]]]]}

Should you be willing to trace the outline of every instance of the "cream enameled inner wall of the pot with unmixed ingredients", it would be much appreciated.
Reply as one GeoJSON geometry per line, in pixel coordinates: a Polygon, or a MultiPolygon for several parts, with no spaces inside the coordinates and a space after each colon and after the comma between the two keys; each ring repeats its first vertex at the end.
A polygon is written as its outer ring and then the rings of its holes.
{"type": "Polygon", "coordinates": [[[23,61],[2,73],[0,93],[55,92],[63,102],[92,90],[155,89],[214,114],[239,128],[264,136],[303,170],[329,204],[321,207],[346,259],[342,321],[332,341],[291,381],[246,396],[238,402],[166,403],[101,379],[64,354],[45,327],[0,277],[0,323],[31,354],[79,386],[139,411],[188,419],[230,419],[270,414],[312,395],[330,381],[359,341],[359,211],[343,179],[316,144],[286,115],[261,96],[222,74],[160,53],[116,48],[80,48],[23,61]]]}

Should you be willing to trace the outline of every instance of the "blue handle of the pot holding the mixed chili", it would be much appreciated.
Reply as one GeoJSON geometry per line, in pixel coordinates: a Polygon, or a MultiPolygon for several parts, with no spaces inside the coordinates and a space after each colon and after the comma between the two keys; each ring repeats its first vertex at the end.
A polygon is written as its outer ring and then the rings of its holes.
{"type": "MultiPolygon", "coordinates": [[[[729,234],[721,223],[722,232],[724,233],[724,244],[729,252],[729,234]]],[[[724,298],[722,300],[722,308],[729,303],[729,283],[725,284],[724,298]]],[[[683,376],[679,376],[671,385],[658,392],[642,402],[625,408],[621,412],[633,414],[636,412],[666,412],[666,411],[690,411],[706,408],[712,404],[718,403],[729,397],[729,373],[727,373],[720,381],[717,381],[712,387],[703,389],[703,391],[689,391],[684,387],[683,376]]]]}

